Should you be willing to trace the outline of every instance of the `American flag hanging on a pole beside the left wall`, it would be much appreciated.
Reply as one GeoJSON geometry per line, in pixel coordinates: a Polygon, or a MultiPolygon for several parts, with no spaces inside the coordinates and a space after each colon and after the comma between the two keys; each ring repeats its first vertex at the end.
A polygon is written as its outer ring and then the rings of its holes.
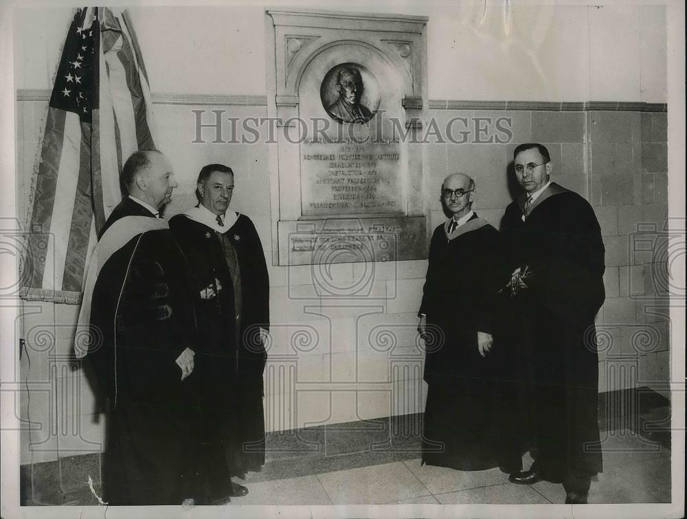
{"type": "Polygon", "coordinates": [[[23,299],[78,304],[120,172],[155,149],[148,75],[126,11],[77,10],[50,97],[22,265],[23,299]]]}

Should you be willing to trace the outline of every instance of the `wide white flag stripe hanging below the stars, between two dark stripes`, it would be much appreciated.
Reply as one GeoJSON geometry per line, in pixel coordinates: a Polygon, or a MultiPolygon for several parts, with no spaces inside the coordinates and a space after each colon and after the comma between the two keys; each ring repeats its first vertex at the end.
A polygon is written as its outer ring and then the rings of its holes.
{"type": "Polygon", "coordinates": [[[62,290],[62,280],[67,260],[67,242],[71,229],[71,214],[74,212],[74,196],[80,169],[81,124],[79,116],[67,112],[65,132],[62,143],[58,170],[59,182],[55,189],[55,201],[50,221],[45,270],[43,271],[43,288],[62,290]]]}

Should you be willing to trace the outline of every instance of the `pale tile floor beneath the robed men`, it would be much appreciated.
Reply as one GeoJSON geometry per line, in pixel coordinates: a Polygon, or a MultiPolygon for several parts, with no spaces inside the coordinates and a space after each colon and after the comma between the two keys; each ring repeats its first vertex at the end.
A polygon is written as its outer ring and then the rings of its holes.
{"type": "MultiPolygon", "coordinates": [[[[669,503],[671,451],[633,435],[607,433],[605,469],[592,480],[589,503],[669,503]]],[[[529,467],[526,455],[523,464],[529,467]]],[[[460,472],[420,466],[420,459],[295,478],[248,483],[232,505],[547,504],[563,503],[562,485],[513,485],[499,469],[460,472]]]]}

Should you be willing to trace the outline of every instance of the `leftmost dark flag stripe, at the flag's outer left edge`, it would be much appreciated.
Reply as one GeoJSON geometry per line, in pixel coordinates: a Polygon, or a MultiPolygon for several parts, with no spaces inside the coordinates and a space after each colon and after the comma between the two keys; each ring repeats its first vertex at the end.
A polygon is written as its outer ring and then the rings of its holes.
{"type": "Polygon", "coordinates": [[[67,113],[56,108],[48,108],[45,119],[45,135],[43,150],[38,165],[38,176],[34,187],[34,206],[31,215],[31,227],[27,239],[27,252],[30,256],[25,262],[25,268],[31,271],[23,273],[24,279],[30,279],[27,286],[42,288],[43,272],[45,271],[45,255],[47,251],[47,233],[52,220],[55,189],[57,186],[60,153],[65,129],[65,115],[67,113]]]}

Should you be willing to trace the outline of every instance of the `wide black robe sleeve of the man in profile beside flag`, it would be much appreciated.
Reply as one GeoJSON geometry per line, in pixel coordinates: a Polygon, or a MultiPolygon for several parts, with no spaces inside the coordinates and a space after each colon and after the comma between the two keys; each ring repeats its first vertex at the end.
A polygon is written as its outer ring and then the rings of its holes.
{"type": "Polygon", "coordinates": [[[196,344],[188,264],[168,230],[148,231],[114,253],[93,290],[89,357],[111,404],[164,402],[181,382],[175,362],[196,344]]]}

